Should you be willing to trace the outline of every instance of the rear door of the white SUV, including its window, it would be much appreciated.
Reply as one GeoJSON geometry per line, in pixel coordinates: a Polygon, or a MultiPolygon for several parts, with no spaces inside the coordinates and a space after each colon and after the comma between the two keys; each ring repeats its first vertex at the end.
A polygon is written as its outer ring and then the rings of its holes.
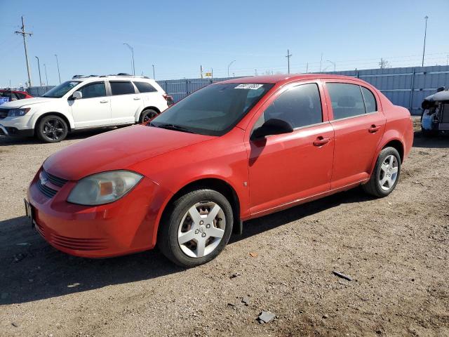
{"type": "Polygon", "coordinates": [[[131,81],[109,81],[112,124],[133,124],[142,109],[142,98],[131,81]]]}

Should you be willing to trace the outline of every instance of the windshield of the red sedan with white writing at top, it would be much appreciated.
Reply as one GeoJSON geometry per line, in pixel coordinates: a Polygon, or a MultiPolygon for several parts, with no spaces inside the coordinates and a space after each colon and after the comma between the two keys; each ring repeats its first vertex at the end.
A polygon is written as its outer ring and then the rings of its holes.
{"type": "Polygon", "coordinates": [[[222,136],[273,84],[213,84],[192,93],[152,120],[149,126],[222,136]]]}

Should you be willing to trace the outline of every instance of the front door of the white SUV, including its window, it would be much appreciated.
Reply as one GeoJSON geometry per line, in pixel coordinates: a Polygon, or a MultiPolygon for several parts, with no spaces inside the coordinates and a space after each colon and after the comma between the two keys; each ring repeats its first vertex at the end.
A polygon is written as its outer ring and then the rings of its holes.
{"type": "Polygon", "coordinates": [[[69,100],[75,128],[103,126],[111,123],[111,103],[105,81],[91,82],[79,88],[83,97],[69,100]]]}

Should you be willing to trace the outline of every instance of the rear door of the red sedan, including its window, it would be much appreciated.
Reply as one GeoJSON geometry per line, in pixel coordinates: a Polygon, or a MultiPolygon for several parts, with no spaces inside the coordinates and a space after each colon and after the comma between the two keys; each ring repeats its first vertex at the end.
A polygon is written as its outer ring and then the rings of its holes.
{"type": "Polygon", "coordinates": [[[357,81],[326,81],[330,123],[335,130],[331,189],[365,180],[385,128],[375,92],[357,81]]]}

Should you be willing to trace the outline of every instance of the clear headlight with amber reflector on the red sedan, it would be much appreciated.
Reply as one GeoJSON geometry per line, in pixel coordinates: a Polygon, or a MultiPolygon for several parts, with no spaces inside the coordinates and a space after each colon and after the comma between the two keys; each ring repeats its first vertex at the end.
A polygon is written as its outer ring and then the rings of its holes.
{"type": "Polygon", "coordinates": [[[131,171],[97,173],[79,180],[67,201],[89,206],[107,204],[123,197],[140,179],[140,174],[131,171]]]}

